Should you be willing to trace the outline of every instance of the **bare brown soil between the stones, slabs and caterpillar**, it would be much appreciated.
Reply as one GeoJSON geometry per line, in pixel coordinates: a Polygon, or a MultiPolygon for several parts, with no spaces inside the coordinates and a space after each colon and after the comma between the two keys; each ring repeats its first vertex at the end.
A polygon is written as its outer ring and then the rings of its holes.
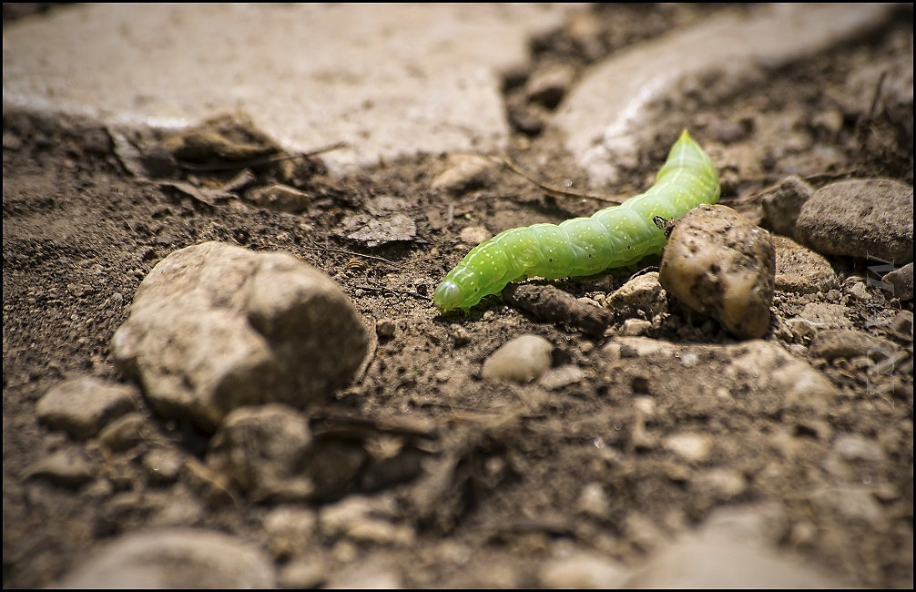
{"type": "MultiPolygon", "coordinates": [[[[627,45],[720,9],[594,8],[593,43],[583,44],[576,27],[554,31],[532,42],[532,68],[562,63],[581,72],[627,45]]],[[[658,122],[657,141],[645,147],[643,164],[615,192],[644,190],[683,126],[714,155],[740,155],[747,147],[766,155],[754,166],[720,170],[721,203],[763,225],[763,196],[789,174],[815,188],[853,177],[911,184],[912,104],[909,111],[885,108],[880,88],[860,115],[843,104],[856,64],[908,52],[911,60],[912,25],[905,18],[871,38],[774,72],[721,104],[676,105],[670,121],[658,122]]],[[[531,117],[549,117],[550,110],[522,112],[519,89],[519,80],[507,81],[517,129],[507,157],[545,183],[587,187],[557,138],[532,123],[531,117]]],[[[196,509],[172,524],[212,528],[271,548],[262,526],[271,504],[244,496],[216,502],[188,472],[165,482],[144,472],[145,455],[162,442],[202,459],[210,434],[147,411],[145,435],[111,451],[93,440],[72,441],[36,417],[38,400],[66,378],[125,381],[110,342],[140,281],[169,253],[210,240],[288,251],[332,276],[363,315],[373,346],[365,372],[338,393],[330,412],[358,415],[379,430],[391,418],[409,420],[412,433],[434,433],[420,438],[424,455],[453,459],[432,510],[424,511],[419,501],[423,488],[431,487],[422,474],[408,472],[371,492],[394,496],[398,510],[387,520],[408,527],[409,537],[374,543],[315,532],[309,553],[325,565],[316,584],[333,581],[339,566],[365,561],[382,565],[404,587],[543,586],[539,565],[558,549],[591,550],[620,565],[638,565],[660,542],[690,531],[714,510],[763,504],[777,509],[773,544],[781,553],[853,586],[912,586],[912,301],[867,282],[877,278],[868,269],[876,262],[828,258],[836,290],[777,291],[765,341],[811,364],[839,392],[828,411],[791,413],[768,399],[781,393],[757,393],[747,378],[726,371],[743,342],[676,301],[668,302],[662,319],[638,312],[632,317],[652,322],[644,333],[649,339],[688,348],[695,365],[676,356],[638,355],[627,346],[608,348],[624,343],[617,338],[627,319],[619,314],[595,336],[540,322],[496,296],[466,315],[432,307],[437,282],[473,246],[462,239],[466,228],[484,226],[496,234],[559,223],[606,203],[549,194],[508,168],[457,194],[435,191],[431,185],[446,170],[446,155],[389,162],[345,178],[326,174],[320,155],[306,165],[300,160],[292,177],[276,162],[254,167],[264,183],[285,174],[295,179],[308,203],[291,214],[258,207],[245,192],[213,198],[187,189],[221,187],[238,170],[171,170],[173,181],[187,186],[145,181],[127,170],[129,158],[113,137],[93,122],[4,113],[4,587],[49,586],[100,543],[161,524],[169,499],[188,499],[196,509]],[[406,240],[370,247],[352,237],[353,217],[372,214],[383,197],[396,198],[386,207],[405,214],[416,229],[406,240]],[[856,297],[857,283],[867,286],[866,298],[856,297]],[[782,323],[812,304],[845,306],[846,328],[888,339],[908,355],[878,378],[867,360],[813,356],[811,335],[782,323]],[[909,334],[901,328],[906,318],[909,334]],[[487,356],[521,334],[554,345],[554,379],[519,386],[483,378],[487,356]],[[574,373],[556,371],[564,367],[574,373]],[[685,432],[711,436],[709,454],[696,460],[672,454],[664,443],[685,432]],[[879,458],[838,476],[829,460],[843,434],[876,443],[879,458]],[[68,484],[34,469],[65,449],[82,452],[93,478],[68,484]],[[735,477],[739,486],[731,488],[735,477]],[[831,497],[853,486],[866,488],[865,510],[831,497]],[[597,509],[583,498],[583,491],[596,489],[602,492],[597,509]]],[[[161,138],[141,139],[148,146],[161,138]]],[[[602,302],[634,273],[657,265],[655,259],[597,277],[531,283],[602,302]]],[[[319,422],[320,413],[311,412],[319,422]]],[[[303,508],[318,511],[371,489],[360,488],[347,485],[303,508]]],[[[274,557],[282,566],[297,555],[275,551],[274,557]]]]}

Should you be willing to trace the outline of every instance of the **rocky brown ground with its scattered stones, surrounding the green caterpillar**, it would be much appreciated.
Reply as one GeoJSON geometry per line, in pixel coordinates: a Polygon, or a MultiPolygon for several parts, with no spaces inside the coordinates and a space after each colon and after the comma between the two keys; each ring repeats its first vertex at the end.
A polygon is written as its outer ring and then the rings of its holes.
{"type": "Polygon", "coordinates": [[[912,8],[684,50],[753,10],[572,11],[498,154],[341,173],[244,115],[5,104],[4,586],[912,587],[912,8]],[[631,62],[686,82],[608,168],[569,126],[631,62]],[[432,306],[683,128],[729,209],[669,251],[737,315],[660,258],[432,306]]]}

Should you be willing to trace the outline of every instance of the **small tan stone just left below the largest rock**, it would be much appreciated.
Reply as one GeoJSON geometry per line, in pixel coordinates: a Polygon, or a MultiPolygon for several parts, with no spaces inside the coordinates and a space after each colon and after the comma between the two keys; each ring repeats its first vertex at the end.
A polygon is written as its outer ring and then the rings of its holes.
{"type": "Polygon", "coordinates": [[[140,393],[132,385],[93,377],[73,378],[38,400],[38,420],[74,438],[90,438],[107,422],[135,410],[140,393]]]}

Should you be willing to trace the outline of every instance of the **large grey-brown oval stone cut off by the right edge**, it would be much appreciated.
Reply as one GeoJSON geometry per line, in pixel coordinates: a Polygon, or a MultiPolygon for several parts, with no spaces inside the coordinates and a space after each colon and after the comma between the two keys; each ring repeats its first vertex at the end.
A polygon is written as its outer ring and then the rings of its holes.
{"type": "Polygon", "coordinates": [[[913,188],[892,179],[837,181],[802,207],[795,236],[824,255],[913,260],[913,188]]]}

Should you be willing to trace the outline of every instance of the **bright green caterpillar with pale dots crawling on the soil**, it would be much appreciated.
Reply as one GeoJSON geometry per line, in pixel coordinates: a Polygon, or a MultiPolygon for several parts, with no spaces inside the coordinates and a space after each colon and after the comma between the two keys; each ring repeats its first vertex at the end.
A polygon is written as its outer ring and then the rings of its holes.
{"type": "Polygon", "coordinates": [[[588,276],[635,263],[665,247],[655,218],[680,218],[701,203],[718,202],[719,193],[713,160],[684,130],[649,191],[589,218],[499,233],[449,271],[432,302],[442,312],[467,311],[510,281],[588,276]]]}

